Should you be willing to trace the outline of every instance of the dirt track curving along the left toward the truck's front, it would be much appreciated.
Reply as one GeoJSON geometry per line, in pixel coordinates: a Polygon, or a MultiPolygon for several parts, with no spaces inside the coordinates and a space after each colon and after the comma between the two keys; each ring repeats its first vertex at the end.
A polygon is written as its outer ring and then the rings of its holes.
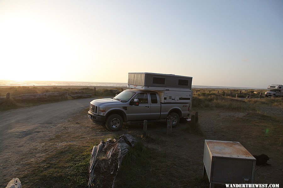
{"type": "MultiPolygon", "coordinates": [[[[66,123],[76,113],[86,109],[93,99],[95,98],[0,112],[0,181],[14,178],[19,174],[18,171],[26,170],[22,169],[25,164],[52,152],[52,148],[48,149],[46,140],[64,132],[66,123]]],[[[1,183],[5,184],[0,182],[0,187],[6,186],[1,183]]]]}

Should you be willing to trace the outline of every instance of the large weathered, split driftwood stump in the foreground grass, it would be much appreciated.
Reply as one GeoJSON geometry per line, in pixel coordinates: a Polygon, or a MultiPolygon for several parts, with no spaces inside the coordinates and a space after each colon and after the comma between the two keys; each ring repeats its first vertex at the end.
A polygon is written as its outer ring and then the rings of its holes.
{"type": "Polygon", "coordinates": [[[123,134],[118,140],[108,138],[107,142],[102,140],[99,145],[93,146],[88,187],[114,187],[122,159],[135,143],[133,136],[123,134]]]}

